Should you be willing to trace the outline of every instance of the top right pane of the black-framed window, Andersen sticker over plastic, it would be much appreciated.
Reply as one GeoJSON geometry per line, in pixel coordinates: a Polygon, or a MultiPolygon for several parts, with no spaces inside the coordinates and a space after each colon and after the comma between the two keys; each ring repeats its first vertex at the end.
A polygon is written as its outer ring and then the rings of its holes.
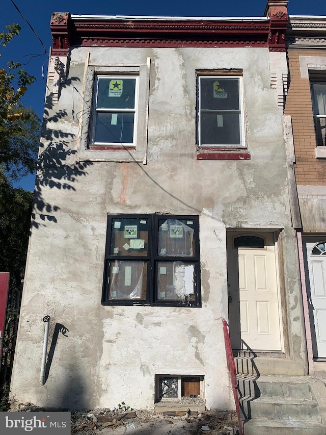
{"type": "Polygon", "coordinates": [[[159,219],[158,255],[194,257],[194,225],[191,219],[159,219]]]}

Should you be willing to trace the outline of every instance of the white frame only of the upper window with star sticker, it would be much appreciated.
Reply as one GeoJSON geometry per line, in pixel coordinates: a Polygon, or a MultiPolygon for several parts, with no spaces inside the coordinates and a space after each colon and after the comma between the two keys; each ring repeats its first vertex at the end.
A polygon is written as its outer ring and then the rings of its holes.
{"type": "Polygon", "coordinates": [[[139,75],[127,75],[127,74],[95,74],[94,80],[94,91],[93,91],[93,110],[91,117],[91,128],[90,128],[90,142],[92,145],[103,145],[103,146],[117,146],[117,147],[135,147],[137,138],[137,122],[138,122],[138,99],[139,99],[139,75]],[[134,108],[133,109],[103,109],[96,108],[96,101],[98,95],[98,84],[100,79],[106,80],[124,80],[124,79],[135,79],[135,89],[134,89],[134,108]],[[132,143],[130,142],[95,142],[95,120],[96,113],[133,113],[133,135],[132,143]]]}

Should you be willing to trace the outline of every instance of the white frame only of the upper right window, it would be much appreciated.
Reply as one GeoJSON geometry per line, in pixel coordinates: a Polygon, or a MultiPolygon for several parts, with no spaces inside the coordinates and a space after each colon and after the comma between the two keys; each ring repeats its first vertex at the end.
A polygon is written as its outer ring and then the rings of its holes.
{"type": "MultiPolygon", "coordinates": [[[[204,110],[204,109],[203,109],[204,110]]],[[[205,109],[206,110],[206,109],[205,109]]],[[[245,138],[245,128],[244,128],[244,102],[243,102],[243,78],[242,75],[229,75],[229,74],[209,74],[209,73],[200,73],[198,74],[198,145],[200,148],[246,148],[246,138],[245,138]],[[239,144],[203,144],[201,143],[201,129],[202,120],[201,120],[201,82],[207,79],[229,79],[229,80],[237,80],[238,81],[238,89],[239,89],[239,110],[217,110],[213,109],[212,112],[239,112],[239,129],[240,129],[240,143],[239,144]]]]}

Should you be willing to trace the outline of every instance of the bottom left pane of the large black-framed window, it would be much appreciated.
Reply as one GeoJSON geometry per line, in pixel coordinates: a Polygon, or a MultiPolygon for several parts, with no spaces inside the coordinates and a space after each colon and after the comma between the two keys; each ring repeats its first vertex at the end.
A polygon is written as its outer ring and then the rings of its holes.
{"type": "Polygon", "coordinates": [[[108,299],[146,300],[147,263],[112,261],[109,273],[108,299]]]}

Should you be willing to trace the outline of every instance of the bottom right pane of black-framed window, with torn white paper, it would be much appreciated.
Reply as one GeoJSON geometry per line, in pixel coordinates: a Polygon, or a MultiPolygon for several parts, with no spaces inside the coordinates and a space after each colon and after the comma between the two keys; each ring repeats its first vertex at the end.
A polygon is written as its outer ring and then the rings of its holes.
{"type": "Polygon", "coordinates": [[[157,300],[195,301],[195,263],[157,262],[157,300]]]}

